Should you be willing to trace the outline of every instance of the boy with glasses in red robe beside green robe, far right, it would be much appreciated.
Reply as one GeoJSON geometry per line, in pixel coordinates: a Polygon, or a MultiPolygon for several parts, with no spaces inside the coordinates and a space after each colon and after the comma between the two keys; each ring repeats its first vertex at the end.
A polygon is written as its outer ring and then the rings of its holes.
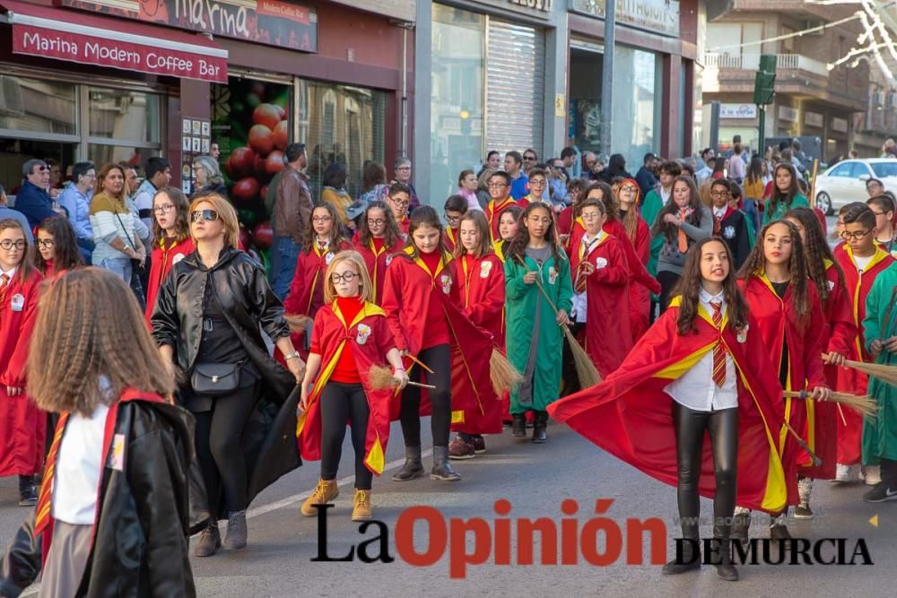
{"type": "MultiPolygon", "coordinates": [[[[894,258],[875,242],[875,212],[866,204],[850,204],[849,209],[841,215],[844,230],[842,251],[834,253],[835,260],[844,271],[844,282],[847,285],[852,305],[854,324],[857,330],[866,317],[866,298],[875,277],[883,273],[893,264],[894,258]]],[[[875,359],[866,351],[862,339],[856,334],[850,341],[849,360],[874,363],[875,359]]],[[[866,394],[868,377],[852,368],[838,368],[837,389],[844,393],[866,394]]],[[[859,464],[861,457],[860,441],[863,435],[863,418],[853,410],[842,410],[847,424],[842,422],[838,427],[838,471],[835,481],[849,481],[853,465],[859,464]]],[[[878,466],[864,467],[862,475],[866,483],[874,486],[881,481],[878,466]]]]}

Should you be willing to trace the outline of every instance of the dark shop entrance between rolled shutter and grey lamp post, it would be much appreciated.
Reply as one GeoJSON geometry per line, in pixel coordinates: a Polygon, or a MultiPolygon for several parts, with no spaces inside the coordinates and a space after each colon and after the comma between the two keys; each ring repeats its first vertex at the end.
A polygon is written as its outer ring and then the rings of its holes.
{"type": "Polygon", "coordinates": [[[576,42],[570,48],[570,134],[580,152],[601,148],[601,78],[604,48],[576,42]]]}

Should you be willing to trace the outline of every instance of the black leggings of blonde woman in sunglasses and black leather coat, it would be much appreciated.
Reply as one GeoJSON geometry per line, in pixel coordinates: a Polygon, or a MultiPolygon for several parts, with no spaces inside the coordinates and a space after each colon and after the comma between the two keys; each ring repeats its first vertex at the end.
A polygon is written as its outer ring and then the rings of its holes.
{"type": "Polygon", "coordinates": [[[238,388],[234,394],[213,399],[212,410],[196,416],[196,457],[203,471],[209,513],[218,513],[219,496],[224,490],[228,511],[245,510],[248,489],[246,455],[243,454],[243,431],[258,399],[258,382],[238,388]]]}

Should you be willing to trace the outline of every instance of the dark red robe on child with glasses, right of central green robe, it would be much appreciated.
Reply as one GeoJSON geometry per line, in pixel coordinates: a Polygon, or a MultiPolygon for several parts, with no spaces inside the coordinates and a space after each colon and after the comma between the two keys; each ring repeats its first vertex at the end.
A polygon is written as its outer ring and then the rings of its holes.
{"type": "Polygon", "coordinates": [[[573,290],[586,291],[586,351],[601,377],[610,376],[632,348],[629,313],[629,268],[623,244],[607,233],[589,248],[580,240],[570,255],[573,290]],[[582,264],[589,262],[595,272],[586,276],[582,264]]]}

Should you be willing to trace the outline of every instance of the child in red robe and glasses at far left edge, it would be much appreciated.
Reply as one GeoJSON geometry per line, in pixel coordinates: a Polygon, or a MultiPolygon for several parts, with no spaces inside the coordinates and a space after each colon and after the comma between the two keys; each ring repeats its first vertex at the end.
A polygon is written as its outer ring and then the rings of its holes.
{"type": "MultiPolygon", "coordinates": [[[[19,506],[37,503],[47,416],[25,394],[25,366],[43,277],[19,221],[0,220],[0,477],[19,476],[19,506]]],[[[47,359],[54,359],[47,356],[47,359]]]]}

